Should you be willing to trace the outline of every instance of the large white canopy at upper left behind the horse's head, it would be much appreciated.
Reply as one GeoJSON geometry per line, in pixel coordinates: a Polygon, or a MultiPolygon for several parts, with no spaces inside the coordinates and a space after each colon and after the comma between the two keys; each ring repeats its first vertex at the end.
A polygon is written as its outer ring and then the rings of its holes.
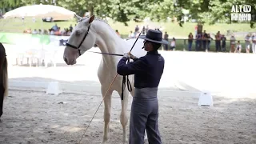
{"type": "Polygon", "coordinates": [[[69,20],[74,18],[74,12],[66,10],[60,6],[53,5],[32,5],[22,6],[17,9],[11,10],[3,15],[4,18],[46,18],[52,17],[54,20],[69,20]]]}

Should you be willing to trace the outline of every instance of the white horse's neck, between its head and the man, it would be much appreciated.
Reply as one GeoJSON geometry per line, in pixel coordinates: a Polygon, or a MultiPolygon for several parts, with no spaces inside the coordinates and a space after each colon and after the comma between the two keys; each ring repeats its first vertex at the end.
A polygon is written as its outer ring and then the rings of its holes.
{"type": "MultiPolygon", "coordinates": [[[[111,30],[110,26],[105,26],[104,29],[105,30],[97,32],[98,36],[96,38],[96,45],[101,52],[108,54],[124,54],[126,47],[125,41],[119,38],[118,35],[113,32],[114,30],[111,30]]],[[[118,60],[120,59],[119,56],[106,54],[103,54],[102,58],[106,65],[114,66],[113,68],[117,66],[118,60]]]]}

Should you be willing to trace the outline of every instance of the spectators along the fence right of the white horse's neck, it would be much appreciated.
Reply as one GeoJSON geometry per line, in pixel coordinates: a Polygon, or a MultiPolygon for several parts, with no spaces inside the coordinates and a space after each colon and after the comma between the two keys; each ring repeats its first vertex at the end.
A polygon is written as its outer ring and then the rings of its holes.
{"type": "MultiPolygon", "coordinates": [[[[146,34],[147,30],[149,30],[148,26],[143,26],[141,31],[142,34],[146,34]]],[[[156,29],[159,30],[159,29],[156,29]]],[[[203,30],[202,33],[198,33],[197,27],[195,28],[195,37],[192,33],[188,35],[188,38],[185,39],[185,45],[187,46],[187,50],[192,51],[193,42],[194,50],[203,51],[210,50],[211,43],[214,42],[215,51],[216,52],[231,52],[231,53],[241,53],[242,48],[246,49],[246,53],[250,53],[250,47],[253,53],[256,53],[256,34],[248,33],[245,37],[245,47],[243,47],[242,42],[236,40],[234,34],[231,34],[230,40],[227,40],[225,34],[221,34],[220,31],[217,34],[206,33],[206,30],[203,30]],[[230,45],[226,45],[226,42],[230,42],[230,45]],[[230,46],[230,47],[227,47],[230,46]]],[[[138,34],[140,33],[139,27],[136,26],[134,32],[131,30],[128,38],[138,38],[138,34]]],[[[176,47],[176,38],[169,38],[169,34],[165,32],[162,36],[163,39],[170,42],[170,45],[163,45],[163,50],[175,50],[176,47]]]]}

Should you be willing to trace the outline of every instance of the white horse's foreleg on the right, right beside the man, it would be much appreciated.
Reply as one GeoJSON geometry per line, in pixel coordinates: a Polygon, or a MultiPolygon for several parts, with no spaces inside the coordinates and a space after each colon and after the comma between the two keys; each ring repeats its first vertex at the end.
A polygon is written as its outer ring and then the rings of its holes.
{"type": "MultiPolygon", "coordinates": [[[[122,97],[122,91],[118,92],[118,94],[120,95],[120,97],[122,97]]],[[[123,100],[121,99],[122,110],[120,114],[120,122],[122,124],[122,143],[128,142],[128,138],[126,134],[126,126],[128,123],[128,118],[127,118],[127,105],[128,105],[128,99],[129,99],[128,97],[129,97],[128,90],[125,90],[123,94],[123,100]]]]}

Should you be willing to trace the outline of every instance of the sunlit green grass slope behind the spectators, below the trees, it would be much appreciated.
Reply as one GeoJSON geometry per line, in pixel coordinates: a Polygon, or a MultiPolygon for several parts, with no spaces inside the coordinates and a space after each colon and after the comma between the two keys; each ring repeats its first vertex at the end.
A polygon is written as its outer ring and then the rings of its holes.
{"type": "MultiPolygon", "coordinates": [[[[46,29],[49,30],[54,24],[57,24],[63,30],[64,28],[68,28],[70,24],[74,26],[76,23],[75,21],[70,22],[42,22],[39,18],[36,22],[32,22],[31,18],[26,18],[25,22],[22,22],[21,18],[13,18],[13,19],[0,19],[0,30],[6,32],[18,32],[22,33],[23,30],[31,28],[34,29],[46,29]]],[[[143,22],[128,22],[129,26],[125,26],[121,22],[113,22],[109,21],[110,26],[114,30],[118,30],[119,33],[122,35],[122,38],[126,38],[130,32],[130,30],[134,31],[136,25],[138,26],[162,26],[164,29],[163,32],[167,31],[169,34],[169,38],[187,38],[187,35],[191,32],[194,34],[194,26],[196,23],[185,23],[182,27],[178,26],[178,23],[173,22],[150,22],[150,23],[143,23],[143,22]]],[[[256,29],[251,29],[249,24],[214,24],[214,25],[207,25],[203,26],[203,30],[211,34],[216,34],[218,31],[221,34],[226,34],[227,30],[231,30],[234,32],[255,32],[256,29]]],[[[227,37],[228,39],[228,37],[227,37]]],[[[243,38],[238,38],[243,39],[243,38]]]]}

